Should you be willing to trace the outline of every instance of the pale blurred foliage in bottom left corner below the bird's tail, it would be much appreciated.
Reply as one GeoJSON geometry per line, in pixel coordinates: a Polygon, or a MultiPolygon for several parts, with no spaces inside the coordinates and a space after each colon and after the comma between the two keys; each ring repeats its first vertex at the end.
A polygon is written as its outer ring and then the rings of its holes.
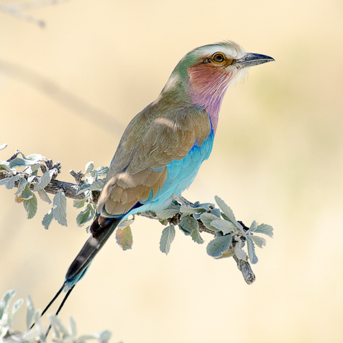
{"type": "MultiPolygon", "coordinates": [[[[12,305],[12,310],[9,310],[10,301],[15,296],[14,289],[3,294],[0,301],[0,342],[45,342],[46,333],[43,332],[43,326],[40,321],[40,309],[34,309],[34,304],[30,296],[27,296],[26,305],[26,325],[27,331],[19,333],[14,331],[14,320],[19,309],[21,309],[24,300],[18,299],[12,305]],[[31,328],[34,323],[34,327],[31,328]]],[[[93,333],[92,335],[80,335],[76,330],[76,324],[72,317],[69,317],[69,329],[64,326],[60,318],[54,315],[48,315],[49,322],[54,332],[54,342],[58,343],[85,343],[89,340],[97,340],[99,343],[107,343],[110,340],[110,331],[102,333],[93,333]]]]}

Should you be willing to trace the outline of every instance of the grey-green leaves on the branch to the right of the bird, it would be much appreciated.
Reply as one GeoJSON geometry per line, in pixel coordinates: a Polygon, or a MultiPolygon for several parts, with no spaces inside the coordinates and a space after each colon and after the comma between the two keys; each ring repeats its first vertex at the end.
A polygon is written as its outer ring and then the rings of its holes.
{"type": "MultiPolygon", "coordinates": [[[[159,220],[163,220],[165,213],[174,213],[176,211],[182,213],[178,227],[185,235],[190,235],[193,241],[198,244],[204,243],[204,239],[200,236],[200,224],[203,224],[209,230],[215,231],[215,239],[210,241],[206,248],[207,253],[211,257],[218,259],[235,254],[238,259],[245,261],[250,259],[251,263],[257,263],[255,244],[262,248],[265,246],[265,239],[256,236],[255,233],[262,233],[272,237],[272,226],[266,224],[258,225],[257,222],[252,222],[250,228],[247,228],[236,221],[233,211],[222,199],[216,196],[215,201],[221,211],[213,211],[215,210],[214,204],[180,206],[173,203],[167,209],[156,212],[155,215],[159,220]],[[248,254],[243,250],[245,242],[248,246],[248,254]]],[[[160,249],[165,254],[169,252],[174,237],[174,226],[170,225],[163,230],[160,249]]]]}

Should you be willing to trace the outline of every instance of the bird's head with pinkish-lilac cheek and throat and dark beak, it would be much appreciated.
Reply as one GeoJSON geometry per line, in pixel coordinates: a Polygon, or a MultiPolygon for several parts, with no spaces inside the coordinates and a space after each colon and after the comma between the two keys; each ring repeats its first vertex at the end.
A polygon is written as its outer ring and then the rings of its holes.
{"type": "Polygon", "coordinates": [[[249,67],[273,60],[269,56],[247,53],[232,41],[204,45],[178,62],[163,93],[186,95],[192,104],[206,109],[215,120],[226,89],[244,79],[249,67]]]}

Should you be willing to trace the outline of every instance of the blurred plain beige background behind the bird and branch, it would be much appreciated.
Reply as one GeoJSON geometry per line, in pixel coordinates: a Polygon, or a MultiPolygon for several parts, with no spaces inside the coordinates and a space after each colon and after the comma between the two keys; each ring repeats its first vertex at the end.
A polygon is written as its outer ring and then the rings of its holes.
{"type": "MultiPolygon", "coordinates": [[[[230,39],[276,60],[229,89],[211,158],[184,194],[218,195],[245,224],[274,226],[256,282],[206,255],[206,234],[199,246],[177,230],[166,257],[163,226],[138,218],[132,250],[108,241],[64,323],[70,314],[79,333],[109,329],[124,343],[342,342],[342,1],[71,0],[27,13],[47,26],[0,12],[0,159],[40,153],[70,182],[88,161],[109,165],[127,123],[194,47],[230,39]]],[[[87,237],[71,200],[68,228],[45,230],[48,210],[40,201],[27,220],[0,187],[0,294],[14,288],[40,308],[87,237]]]]}

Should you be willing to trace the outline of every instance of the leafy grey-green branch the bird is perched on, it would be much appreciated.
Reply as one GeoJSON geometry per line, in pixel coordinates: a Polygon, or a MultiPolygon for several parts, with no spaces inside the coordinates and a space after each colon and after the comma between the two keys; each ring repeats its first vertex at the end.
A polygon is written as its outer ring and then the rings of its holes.
{"type": "MultiPolygon", "coordinates": [[[[1,145],[0,150],[5,147],[6,145],[1,145]]],[[[54,164],[40,154],[25,156],[16,150],[7,161],[0,161],[0,185],[5,185],[7,189],[14,187],[18,189],[15,193],[15,201],[23,202],[28,219],[36,215],[38,206],[36,194],[48,204],[52,203],[51,209],[42,221],[46,229],[49,228],[52,220],[56,220],[62,226],[67,226],[67,198],[73,198],[73,206],[82,209],[76,217],[76,222],[78,226],[83,226],[95,217],[95,205],[104,186],[108,167],[95,169],[93,162],[89,162],[83,173],[71,170],[75,184],[56,180],[60,169],[59,162],[54,164]],[[17,171],[20,167],[23,168],[21,172],[17,171]],[[38,175],[38,171],[42,176],[38,175]],[[52,202],[47,193],[55,195],[52,202]]],[[[174,201],[163,211],[147,211],[137,213],[137,215],[158,220],[166,226],[160,241],[160,250],[165,254],[168,254],[176,235],[175,226],[178,226],[185,235],[191,236],[197,244],[204,243],[200,233],[214,235],[214,239],[206,248],[208,255],[215,259],[233,257],[244,280],[251,284],[255,281],[255,274],[252,272],[250,263],[255,264],[258,261],[255,246],[263,248],[266,244],[266,240],[256,234],[272,237],[272,226],[259,225],[254,221],[250,227],[247,227],[243,222],[236,220],[233,211],[224,200],[216,196],[215,202],[217,208],[215,204],[200,204],[199,202],[192,204],[182,197],[175,197],[174,201]]],[[[132,222],[134,218],[125,220],[116,230],[117,243],[123,250],[132,247],[130,229],[132,222]]],[[[89,226],[86,229],[88,228],[89,226]]]]}

